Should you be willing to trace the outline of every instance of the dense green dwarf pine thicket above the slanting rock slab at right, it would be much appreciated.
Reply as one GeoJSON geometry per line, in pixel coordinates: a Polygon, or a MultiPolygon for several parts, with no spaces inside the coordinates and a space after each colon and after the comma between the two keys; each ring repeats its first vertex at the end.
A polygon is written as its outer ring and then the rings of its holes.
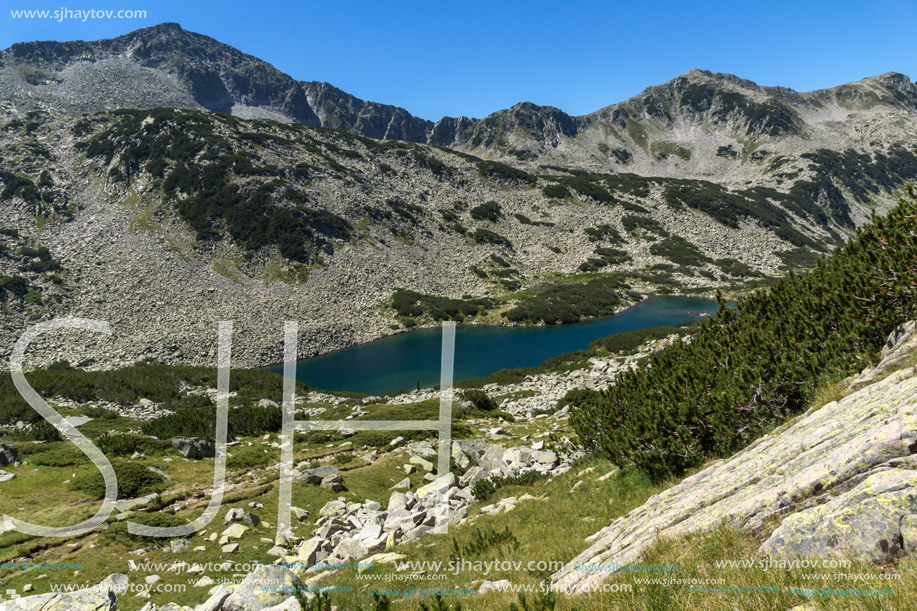
{"type": "Polygon", "coordinates": [[[917,195],[815,269],[721,307],[677,342],[581,398],[587,448],[654,477],[730,456],[804,409],[826,379],[861,370],[917,314],[917,195]]]}

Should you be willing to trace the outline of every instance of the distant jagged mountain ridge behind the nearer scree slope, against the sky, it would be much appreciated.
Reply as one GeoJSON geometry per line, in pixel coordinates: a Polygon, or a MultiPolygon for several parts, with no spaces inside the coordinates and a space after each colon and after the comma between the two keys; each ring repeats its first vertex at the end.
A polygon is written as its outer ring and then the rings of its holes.
{"type": "Polygon", "coordinates": [[[912,122],[917,112],[917,87],[898,73],[800,93],[692,70],[583,116],[524,102],[483,119],[431,121],[328,83],[297,81],[176,23],[93,42],[15,44],[0,52],[0,91],[8,107],[19,111],[206,109],[456,147],[485,157],[682,177],[734,171],[743,165],[735,162],[761,154],[765,143],[792,150],[805,141],[849,139],[881,128],[877,119],[912,122]],[[701,133],[705,141],[698,140],[701,133]],[[737,150],[720,150],[730,146],[737,150]]]}

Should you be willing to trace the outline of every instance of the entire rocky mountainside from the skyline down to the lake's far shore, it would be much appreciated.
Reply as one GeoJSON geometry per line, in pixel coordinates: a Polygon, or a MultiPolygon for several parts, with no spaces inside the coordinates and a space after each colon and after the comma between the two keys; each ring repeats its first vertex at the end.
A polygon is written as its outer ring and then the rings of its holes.
{"type": "Polygon", "coordinates": [[[42,340],[34,364],[210,363],[232,319],[237,364],[257,366],[280,360],[284,319],[304,357],[430,322],[389,307],[397,288],[500,298],[477,320],[505,323],[579,272],[616,273],[619,306],[773,276],[917,176],[914,100],[901,75],[803,94],[693,71],[585,117],[432,123],[176,24],[17,44],[0,346],[72,315],[114,333],[42,340]],[[116,110],[159,106],[190,110],[116,110]]]}

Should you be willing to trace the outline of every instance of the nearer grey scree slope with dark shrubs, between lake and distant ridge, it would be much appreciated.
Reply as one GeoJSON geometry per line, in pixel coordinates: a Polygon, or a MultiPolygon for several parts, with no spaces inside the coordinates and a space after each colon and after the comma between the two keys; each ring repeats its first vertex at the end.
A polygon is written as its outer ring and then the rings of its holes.
{"type": "MultiPolygon", "coordinates": [[[[0,225],[9,232],[0,236],[0,277],[9,279],[3,345],[54,315],[113,326],[110,339],[39,342],[35,354],[46,363],[211,363],[216,322],[234,320],[235,361],[263,365],[281,360],[286,319],[302,321],[304,356],[413,324],[383,305],[398,287],[456,299],[498,296],[544,285],[537,274],[575,273],[597,251],[616,258],[596,265],[634,276],[628,282],[638,292],[674,278],[678,286],[710,286],[776,273],[783,259],[775,253],[796,249],[751,221],[729,227],[678,211],[652,197],[654,183],[646,197],[617,193],[617,204],[558,199],[533,188],[555,178],[490,175],[477,158],[327,130],[171,111],[156,121],[122,114],[88,125],[33,119],[0,131],[9,160],[0,225]],[[128,161],[179,130],[198,131],[189,146],[214,147],[197,156],[241,164],[220,179],[234,199],[211,197],[200,182],[191,193],[170,191],[168,176],[186,167],[174,149],[128,161]],[[151,171],[154,161],[165,164],[165,179],[151,171]],[[638,201],[644,213],[623,207],[638,201]],[[483,202],[494,202],[485,209],[493,218],[475,212],[483,202]],[[284,220],[275,224],[273,215],[284,220]],[[630,218],[645,220],[628,230],[622,223],[630,218]],[[670,234],[697,245],[703,259],[676,265],[675,254],[654,251],[670,234]],[[662,267],[641,280],[653,265],[662,267]]],[[[832,239],[824,228],[801,227],[813,242],[832,239]]]]}

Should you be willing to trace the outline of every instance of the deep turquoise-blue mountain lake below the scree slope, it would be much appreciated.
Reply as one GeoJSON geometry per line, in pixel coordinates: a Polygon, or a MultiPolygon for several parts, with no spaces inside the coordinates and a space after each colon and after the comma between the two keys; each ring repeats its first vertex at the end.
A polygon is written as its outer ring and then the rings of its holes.
{"type": "MultiPolygon", "coordinates": [[[[455,380],[500,369],[531,367],[582,350],[615,333],[673,325],[716,313],[716,302],[696,297],[654,297],[620,314],[550,327],[459,325],[455,333],[455,380]]],[[[421,329],[297,363],[296,377],[312,388],[380,395],[439,384],[442,331],[421,329]]],[[[277,373],[283,366],[269,368],[277,373]]]]}

